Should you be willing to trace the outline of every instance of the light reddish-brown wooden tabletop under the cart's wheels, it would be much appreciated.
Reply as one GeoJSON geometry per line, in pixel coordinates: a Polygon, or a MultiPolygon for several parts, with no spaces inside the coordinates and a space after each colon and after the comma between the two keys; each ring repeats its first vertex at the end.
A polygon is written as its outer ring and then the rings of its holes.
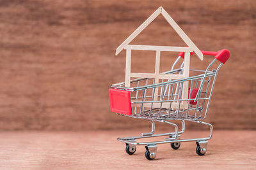
{"type": "MultiPolygon", "coordinates": [[[[214,131],[203,157],[196,154],[195,142],[182,143],[179,150],[158,145],[152,161],[145,159],[145,147],[127,155],[124,143],[116,141],[136,134],[136,130],[0,132],[0,169],[256,169],[256,131],[214,131]]],[[[183,137],[207,135],[188,131],[183,137]]]]}

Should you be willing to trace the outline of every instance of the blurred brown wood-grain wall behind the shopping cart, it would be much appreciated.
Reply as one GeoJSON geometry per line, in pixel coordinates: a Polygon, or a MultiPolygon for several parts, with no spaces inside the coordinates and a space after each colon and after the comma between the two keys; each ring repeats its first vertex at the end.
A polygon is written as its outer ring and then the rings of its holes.
{"type": "MultiPolygon", "coordinates": [[[[256,129],[255,1],[0,0],[0,130],[148,125],[111,113],[108,88],[124,81],[125,52],[115,57],[116,47],[159,6],[200,50],[231,52],[205,121],[216,129],[256,129]]],[[[184,45],[163,17],[134,43],[184,45]]],[[[154,64],[137,59],[141,71],[154,64]]],[[[191,60],[205,68],[211,59],[191,60]]]]}

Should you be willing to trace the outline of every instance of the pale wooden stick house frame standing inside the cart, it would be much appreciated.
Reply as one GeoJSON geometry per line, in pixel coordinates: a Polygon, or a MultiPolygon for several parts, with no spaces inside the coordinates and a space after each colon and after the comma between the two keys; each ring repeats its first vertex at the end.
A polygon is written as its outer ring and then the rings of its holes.
{"type": "MultiPolygon", "coordinates": [[[[204,56],[202,52],[196,47],[196,45],[189,39],[184,31],[179,27],[179,25],[173,20],[170,15],[164,10],[163,7],[159,7],[150,17],[143,22],[132,34],[125,39],[125,41],[116,48],[116,55],[122,50],[126,50],[126,66],[125,66],[125,87],[130,87],[131,78],[155,78],[154,83],[159,83],[159,79],[168,79],[175,80],[180,78],[189,77],[189,62],[190,62],[190,53],[194,52],[200,60],[203,60],[204,56]],[[131,41],[140,34],[158,15],[163,15],[165,20],[170,24],[173,29],[179,34],[180,38],[186,43],[186,47],[181,46],[153,46],[153,45],[129,45],[131,41]],[[156,65],[155,73],[131,73],[131,50],[152,50],[156,51],[156,65]],[[160,70],[160,56],[161,52],[184,52],[184,71],[183,74],[161,74],[160,70]]],[[[183,83],[182,88],[182,99],[188,99],[188,81],[183,83]]],[[[157,101],[158,90],[156,89],[154,101],[157,101]]],[[[157,104],[157,103],[154,103],[157,104]]],[[[162,108],[168,108],[170,105],[166,104],[162,108]]],[[[180,108],[186,108],[188,103],[182,102],[180,108]]],[[[177,108],[177,104],[173,104],[172,108],[177,108]]]]}

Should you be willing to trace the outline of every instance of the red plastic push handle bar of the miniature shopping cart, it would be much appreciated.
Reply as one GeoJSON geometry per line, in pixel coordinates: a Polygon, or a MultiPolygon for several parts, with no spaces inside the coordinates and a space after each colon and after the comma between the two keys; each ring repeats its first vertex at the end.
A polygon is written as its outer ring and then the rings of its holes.
{"type": "MultiPolygon", "coordinates": [[[[230,52],[227,49],[220,50],[218,52],[209,52],[209,51],[201,51],[204,55],[212,55],[215,56],[215,59],[219,60],[223,64],[228,60],[230,57],[230,52]]],[[[193,55],[194,53],[191,52],[190,55],[193,55]]],[[[180,52],[179,56],[184,59],[184,52],[180,52]]]]}

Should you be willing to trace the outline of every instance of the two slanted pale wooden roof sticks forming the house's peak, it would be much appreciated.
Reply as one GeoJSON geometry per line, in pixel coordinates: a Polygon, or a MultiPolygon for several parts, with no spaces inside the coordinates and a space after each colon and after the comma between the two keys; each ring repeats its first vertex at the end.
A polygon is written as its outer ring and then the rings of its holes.
{"type": "Polygon", "coordinates": [[[166,19],[166,21],[173,27],[173,29],[177,32],[177,34],[179,34],[180,38],[186,43],[186,45],[188,45],[195,52],[195,54],[198,56],[198,58],[200,60],[203,60],[204,59],[203,53],[197,48],[197,46],[193,43],[193,41],[191,41],[191,39],[189,39],[189,37],[185,34],[185,32],[182,31],[182,29],[179,27],[179,25],[164,10],[164,8],[162,6],[160,6],[156,11],[154,11],[154,13],[152,13],[152,15],[150,15],[150,17],[148,17],[147,20],[145,20],[145,22],[143,22],[140,25],[140,27],[138,27],[134,32],[132,32],[132,34],[127,39],[125,39],[125,41],[120,46],[118,46],[118,48],[116,48],[116,55],[118,55],[118,53],[120,53],[122,50],[124,50],[125,46],[128,45],[129,43],[131,43],[131,41],[134,38],[136,38],[136,36],[138,36],[138,34],[140,34],[140,32],[142,32],[143,29],[145,29],[160,14],[163,15],[163,17],[166,19]]]}

